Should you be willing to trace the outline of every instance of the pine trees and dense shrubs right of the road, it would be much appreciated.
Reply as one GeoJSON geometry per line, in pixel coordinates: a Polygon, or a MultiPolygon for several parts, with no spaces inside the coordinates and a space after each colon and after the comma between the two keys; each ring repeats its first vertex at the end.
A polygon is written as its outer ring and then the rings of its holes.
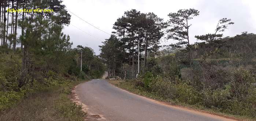
{"type": "Polygon", "coordinates": [[[168,16],[164,22],[151,12],[131,10],[117,19],[116,31],[100,46],[108,77],[130,79],[134,88],[168,101],[255,118],[256,35],[223,37],[234,24],[223,18],[214,33],[195,35],[198,41],[192,44],[189,20],[199,11],[179,10],[168,16]],[[178,42],[159,50],[161,39],[178,42]]]}

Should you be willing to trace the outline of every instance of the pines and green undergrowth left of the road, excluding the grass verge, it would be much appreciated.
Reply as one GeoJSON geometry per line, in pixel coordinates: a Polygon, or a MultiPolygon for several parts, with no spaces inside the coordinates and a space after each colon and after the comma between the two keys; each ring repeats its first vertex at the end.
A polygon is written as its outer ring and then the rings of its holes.
{"type": "Polygon", "coordinates": [[[71,17],[62,1],[4,0],[0,5],[0,111],[40,88],[99,78],[104,72],[91,48],[71,48],[70,37],[62,33],[71,17]],[[9,13],[7,8],[54,12],[9,13]]]}

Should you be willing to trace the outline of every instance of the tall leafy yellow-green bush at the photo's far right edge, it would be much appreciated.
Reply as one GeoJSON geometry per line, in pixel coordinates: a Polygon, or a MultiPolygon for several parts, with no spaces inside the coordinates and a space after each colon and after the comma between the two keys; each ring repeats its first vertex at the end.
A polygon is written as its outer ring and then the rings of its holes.
{"type": "Polygon", "coordinates": [[[230,77],[231,96],[229,112],[256,117],[255,75],[245,68],[235,69],[230,77]]]}

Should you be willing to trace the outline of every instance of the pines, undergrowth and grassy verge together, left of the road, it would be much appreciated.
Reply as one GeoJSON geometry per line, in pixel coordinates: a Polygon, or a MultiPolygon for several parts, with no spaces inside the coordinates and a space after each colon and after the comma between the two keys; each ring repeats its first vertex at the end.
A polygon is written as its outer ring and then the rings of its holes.
{"type": "Polygon", "coordinates": [[[0,119],[82,120],[81,107],[69,101],[70,88],[101,77],[104,66],[92,48],[71,48],[69,35],[62,32],[71,17],[65,5],[61,0],[4,0],[0,8],[0,119]],[[7,8],[54,13],[9,13],[7,8]]]}

